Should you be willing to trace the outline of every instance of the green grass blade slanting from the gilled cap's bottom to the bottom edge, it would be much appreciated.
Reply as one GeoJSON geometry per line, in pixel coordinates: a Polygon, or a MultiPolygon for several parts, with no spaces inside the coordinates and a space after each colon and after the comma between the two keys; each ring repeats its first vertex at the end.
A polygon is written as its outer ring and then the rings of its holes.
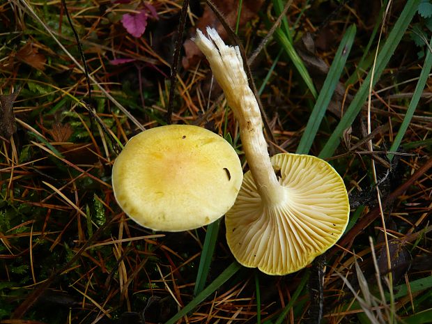
{"type": "Polygon", "coordinates": [[[229,278],[231,278],[233,275],[236,274],[236,272],[241,268],[242,266],[237,261],[234,261],[231,263],[231,265],[228,266],[222,272],[219,277],[217,277],[211,284],[209,284],[201,293],[199,293],[189,304],[187,304],[183,309],[178,311],[176,315],[171,317],[167,323],[165,324],[174,324],[176,323],[180,318],[185,316],[187,313],[192,311],[198,304],[200,304],[203,300],[208,298],[210,294],[215,292],[217,288],[222,286],[229,278]]]}

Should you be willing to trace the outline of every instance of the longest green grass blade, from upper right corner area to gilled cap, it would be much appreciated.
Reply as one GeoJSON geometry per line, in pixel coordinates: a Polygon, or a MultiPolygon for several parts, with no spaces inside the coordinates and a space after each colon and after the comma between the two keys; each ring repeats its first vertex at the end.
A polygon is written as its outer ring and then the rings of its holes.
{"type": "MultiPolygon", "coordinates": [[[[408,25],[410,24],[412,17],[414,17],[417,8],[419,6],[420,0],[408,0],[405,7],[402,10],[399,19],[394,24],[392,31],[389,33],[385,44],[383,45],[380,53],[378,54],[378,59],[376,61],[375,73],[373,75],[372,86],[376,84],[380,75],[383,73],[383,70],[390,58],[392,57],[394,50],[397,45],[401,41],[403,34],[405,33],[408,25]]],[[[344,117],[341,118],[341,121],[337,125],[336,129],[328,139],[327,144],[325,144],[323,150],[318,155],[321,158],[331,157],[336,150],[337,146],[341,141],[341,135],[349,128],[353,123],[355,117],[362,109],[362,105],[364,101],[367,99],[367,95],[369,93],[369,84],[371,82],[372,74],[369,72],[367,78],[364,80],[362,86],[360,86],[359,91],[355,95],[353,101],[349,105],[344,117]]]]}

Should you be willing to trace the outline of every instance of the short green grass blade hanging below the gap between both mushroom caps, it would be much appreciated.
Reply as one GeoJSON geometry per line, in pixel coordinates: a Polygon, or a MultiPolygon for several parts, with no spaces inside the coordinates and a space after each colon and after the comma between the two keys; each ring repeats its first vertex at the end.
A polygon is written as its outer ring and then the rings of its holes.
{"type": "Polygon", "coordinates": [[[198,274],[196,275],[194,295],[198,295],[203,291],[206,285],[208,271],[212,263],[213,252],[217,241],[217,233],[219,233],[220,220],[207,226],[206,238],[204,239],[203,252],[201,252],[201,259],[199,260],[198,274]]]}

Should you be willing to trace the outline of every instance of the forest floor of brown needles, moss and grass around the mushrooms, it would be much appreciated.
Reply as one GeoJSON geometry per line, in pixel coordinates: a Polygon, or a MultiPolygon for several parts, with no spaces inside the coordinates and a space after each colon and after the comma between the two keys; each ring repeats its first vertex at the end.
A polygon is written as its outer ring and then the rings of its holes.
{"type": "Polygon", "coordinates": [[[190,40],[236,45],[206,1],[65,2],[0,3],[1,323],[432,323],[431,1],[215,1],[256,53],[270,153],[321,157],[348,190],[344,236],[284,276],[240,266],[223,218],[155,232],[114,198],[121,147],[167,123],[248,169],[190,40]]]}

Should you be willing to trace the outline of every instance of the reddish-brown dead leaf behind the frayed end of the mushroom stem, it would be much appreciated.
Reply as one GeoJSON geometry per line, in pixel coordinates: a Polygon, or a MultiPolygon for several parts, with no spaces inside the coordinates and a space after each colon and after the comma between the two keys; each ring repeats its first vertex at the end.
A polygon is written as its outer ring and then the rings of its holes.
{"type": "MultiPolygon", "coordinates": [[[[247,22],[249,22],[256,16],[256,13],[258,13],[263,2],[263,0],[243,1],[239,22],[240,27],[244,26],[247,22]]],[[[224,15],[226,22],[228,22],[229,26],[233,28],[233,26],[235,26],[237,22],[238,1],[215,0],[213,1],[213,3],[215,3],[215,6],[220,10],[222,15],[224,15]]],[[[191,31],[191,35],[195,35],[196,29],[200,29],[201,31],[203,31],[204,34],[206,34],[207,26],[215,28],[217,30],[217,33],[219,33],[219,36],[221,36],[224,40],[226,39],[227,33],[224,27],[219,22],[219,20],[217,20],[217,17],[215,16],[215,13],[213,13],[213,10],[211,10],[210,7],[206,5],[204,8],[204,13],[196,22],[196,26],[194,26],[194,29],[191,31]]],[[[198,47],[196,47],[195,43],[192,40],[187,39],[185,43],[183,43],[183,47],[185,49],[185,56],[183,56],[182,59],[183,68],[188,69],[190,68],[190,66],[195,65],[201,58],[203,58],[203,54],[198,49],[198,47]]]]}

